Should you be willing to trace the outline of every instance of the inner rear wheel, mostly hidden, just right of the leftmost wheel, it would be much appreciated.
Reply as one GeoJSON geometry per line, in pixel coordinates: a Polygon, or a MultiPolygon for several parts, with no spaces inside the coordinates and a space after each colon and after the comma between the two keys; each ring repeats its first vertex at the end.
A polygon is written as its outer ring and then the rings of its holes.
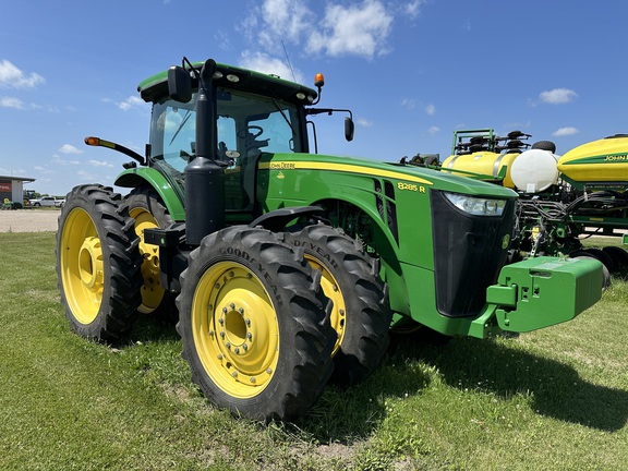
{"type": "Polygon", "coordinates": [[[152,188],[134,189],[126,196],[129,214],[135,220],[135,232],[140,238],[142,254],[142,304],[141,314],[152,314],[164,321],[177,319],[174,295],[166,291],[160,282],[159,246],[146,243],[144,230],[165,229],[172,224],[172,218],[164,202],[152,188]]]}

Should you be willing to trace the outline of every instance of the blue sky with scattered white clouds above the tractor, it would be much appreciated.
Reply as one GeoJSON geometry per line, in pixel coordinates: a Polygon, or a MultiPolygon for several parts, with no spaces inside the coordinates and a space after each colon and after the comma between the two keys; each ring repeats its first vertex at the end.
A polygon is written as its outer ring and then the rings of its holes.
{"type": "Polygon", "coordinates": [[[0,174],[65,194],[112,184],[143,154],[150,107],[137,84],[179,64],[323,72],[319,152],[398,160],[450,149],[459,129],[521,130],[557,154],[628,132],[628,2],[445,0],[0,0],[0,174]],[[285,49],[290,59],[290,70],[285,49]]]}

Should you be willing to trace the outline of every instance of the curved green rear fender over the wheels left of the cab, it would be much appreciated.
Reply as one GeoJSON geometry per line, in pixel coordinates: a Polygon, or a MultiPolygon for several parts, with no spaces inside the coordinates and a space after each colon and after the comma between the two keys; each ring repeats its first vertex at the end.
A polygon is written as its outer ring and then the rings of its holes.
{"type": "Polygon", "coordinates": [[[174,221],[185,220],[183,195],[168,181],[164,173],[149,167],[130,168],[118,176],[114,184],[124,188],[150,185],[161,196],[170,217],[174,221]]]}

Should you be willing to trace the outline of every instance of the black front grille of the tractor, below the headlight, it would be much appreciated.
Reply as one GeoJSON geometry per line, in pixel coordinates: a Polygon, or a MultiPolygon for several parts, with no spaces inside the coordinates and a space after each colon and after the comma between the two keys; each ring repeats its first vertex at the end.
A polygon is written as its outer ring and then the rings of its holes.
{"type": "Polygon", "coordinates": [[[515,202],[498,217],[472,216],[456,208],[438,191],[431,192],[436,306],[449,317],[475,316],[495,283],[512,230],[515,202]]]}

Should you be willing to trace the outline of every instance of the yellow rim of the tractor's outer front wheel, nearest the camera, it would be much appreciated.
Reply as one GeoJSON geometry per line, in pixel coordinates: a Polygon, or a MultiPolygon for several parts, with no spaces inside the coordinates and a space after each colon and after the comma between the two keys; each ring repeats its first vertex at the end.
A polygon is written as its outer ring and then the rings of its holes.
{"type": "Polygon", "coordinates": [[[268,292],[249,269],[231,262],[209,267],[192,301],[198,359],[212,381],[246,399],[268,385],[279,359],[279,324],[268,292]]]}

